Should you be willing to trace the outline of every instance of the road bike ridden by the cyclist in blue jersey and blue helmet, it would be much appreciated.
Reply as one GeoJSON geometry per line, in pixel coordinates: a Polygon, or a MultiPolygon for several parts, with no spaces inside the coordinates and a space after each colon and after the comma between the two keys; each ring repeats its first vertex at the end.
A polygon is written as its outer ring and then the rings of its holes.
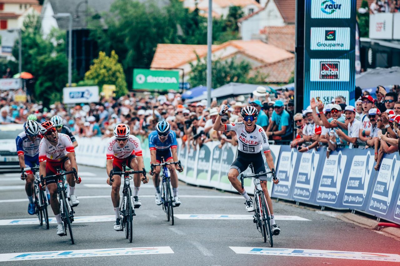
{"type": "Polygon", "coordinates": [[[174,225],[174,207],[175,207],[175,199],[174,195],[172,194],[172,189],[171,189],[171,178],[170,174],[168,172],[168,167],[167,165],[176,165],[178,164],[179,168],[182,169],[182,165],[180,164],[180,161],[177,162],[171,162],[171,163],[166,163],[164,162],[164,157],[161,157],[161,163],[157,164],[151,164],[151,173],[154,173],[154,167],[160,166],[161,167],[161,172],[162,172],[162,187],[161,187],[161,205],[162,205],[162,210],[167,214],[167,221],[169,222],[171,220],[171,225],[174,225]]]}

